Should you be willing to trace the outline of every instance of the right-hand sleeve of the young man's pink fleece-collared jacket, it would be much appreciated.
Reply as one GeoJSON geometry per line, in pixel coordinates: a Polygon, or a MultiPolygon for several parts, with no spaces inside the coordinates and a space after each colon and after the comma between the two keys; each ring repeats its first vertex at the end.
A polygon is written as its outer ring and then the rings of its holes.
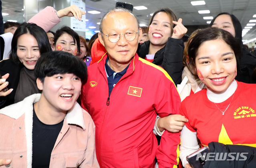
{"type": "Polygon", "coordinates": [[[79,166],[80,168],[99,168],[99,163],[96,158],[96,151],[95,151],[95,125],[93,123],[93,119],[89,114],[88,118],[89,124],[86,129],[88,129],[88,139],[87,139],[87,148],[85,151],[85,160],[79,166]]]}

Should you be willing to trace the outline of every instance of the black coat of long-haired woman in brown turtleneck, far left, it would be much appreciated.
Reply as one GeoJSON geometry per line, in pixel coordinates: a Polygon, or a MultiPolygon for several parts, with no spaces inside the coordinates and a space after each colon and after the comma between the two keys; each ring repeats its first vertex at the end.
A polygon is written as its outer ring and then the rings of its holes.
{"type": "Polygon", "coordinates": [[[6,73],[10,74],[6,79],[6,81],[9,82],[7,87],[8,89],[13,89],[12,93],[9,95],[5,97],[0,96],[0,109],[14,103],[15,93],[20,80],[20,69],[21,67],[11,59],[6,59],[0,62],[0,74],[2,76],[6,73]]]}

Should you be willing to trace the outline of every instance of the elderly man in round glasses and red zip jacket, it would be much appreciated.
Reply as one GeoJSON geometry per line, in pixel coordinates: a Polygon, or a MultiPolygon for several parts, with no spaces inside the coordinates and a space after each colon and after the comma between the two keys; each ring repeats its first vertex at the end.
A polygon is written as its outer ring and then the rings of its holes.
{"type": "Polygon", "coordinates": [[[156,116],[179,113],[180,98],[165,70],[139,58],[137,18],[116,8],[103,16],[99,40],[107,53],[88,67],[81,93],[82,107],[96,126],[100,167],[176,167],[179,132],[163,132],[160,145],[153,134],[156,116]]]}

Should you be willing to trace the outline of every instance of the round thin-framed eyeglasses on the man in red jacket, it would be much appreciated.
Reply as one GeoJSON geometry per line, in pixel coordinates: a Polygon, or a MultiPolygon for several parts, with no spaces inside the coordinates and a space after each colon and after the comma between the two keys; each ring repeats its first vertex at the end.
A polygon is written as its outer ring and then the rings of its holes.
{"type": "MultiPolygon", "coordinates": [[[[102,32],[103,33],[103,32],[102,32]]],[[[139,33],[139,32],[137,32],[139,33]]],[[[128,30],[127,32],[125,32],[125,34],[123,34],[125,36],[125,39],[129,42],[133,41],[136,38],[136,32],[134,32],[133,30],[128,30]]],[[[104,34],[104,33],[103,33],[104,34]]],[[[104,34],[105,35],[105,34],[104,34]]],[[[122,34],[119,34],[117,32],[111,32],[109,35],[105,35],[109,38],[109,41],[112,43],[116,43],[120,40],[120,36],[122,34]]]]}

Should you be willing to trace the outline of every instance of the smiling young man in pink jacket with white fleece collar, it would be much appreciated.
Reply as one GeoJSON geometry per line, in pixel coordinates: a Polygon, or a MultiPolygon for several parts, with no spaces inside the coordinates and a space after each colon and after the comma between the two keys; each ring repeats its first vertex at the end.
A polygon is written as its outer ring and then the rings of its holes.
{"type": "Polygon", "coordinates": [[[99,168],[95,125],[76,102],[85,63],[64,51],[41,55],[35,66],[42,94],[0,110],[0,158],[16,168],[99,168]]]}

